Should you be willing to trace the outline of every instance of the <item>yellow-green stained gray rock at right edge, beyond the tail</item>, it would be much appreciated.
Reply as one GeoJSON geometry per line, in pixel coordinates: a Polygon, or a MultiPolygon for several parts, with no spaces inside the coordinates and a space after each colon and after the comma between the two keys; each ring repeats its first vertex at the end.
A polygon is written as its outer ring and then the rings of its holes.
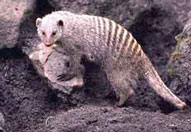
{"type": "Polygon", "coordinates": [[[176,50],[167,68],[170,88],[191,103],[191,19],[177,37],[176,50]]]}

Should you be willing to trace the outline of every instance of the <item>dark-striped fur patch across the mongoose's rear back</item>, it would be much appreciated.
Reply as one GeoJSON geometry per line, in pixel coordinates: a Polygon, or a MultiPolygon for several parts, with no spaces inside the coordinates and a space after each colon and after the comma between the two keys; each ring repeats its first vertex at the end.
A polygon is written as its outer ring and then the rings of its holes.
{"type": "MultiPolygon", "coordinates": [[[[111,53],[117,54],[119,59],[122,55],[131,54],[132,57],[141,56],[142,49],[136,39],[125,28],[112,20],[94,16],[92,23],[95,24],[96,34],[104,34],[104,41],[111,53]]],[[[100,38],[100,37],[99,37],[100,38]]],[[[98,40],[95,40],[98,43],[98,40]]]]}

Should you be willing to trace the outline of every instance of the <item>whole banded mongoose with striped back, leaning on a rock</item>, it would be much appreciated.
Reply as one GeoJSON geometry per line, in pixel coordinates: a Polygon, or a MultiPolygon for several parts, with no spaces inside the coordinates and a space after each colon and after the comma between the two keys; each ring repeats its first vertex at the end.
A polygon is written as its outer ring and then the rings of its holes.
{"type": "Polygon", "coordinates": [[[132,34],[113,20],[56,11],[37,18],[36,26],[46,46],[61,40],[100,64],[119,97],[119,106],[134,93],[138,75],[143,75],[158,95],[178,109],[186,106],[167,88],[132,34]]]}

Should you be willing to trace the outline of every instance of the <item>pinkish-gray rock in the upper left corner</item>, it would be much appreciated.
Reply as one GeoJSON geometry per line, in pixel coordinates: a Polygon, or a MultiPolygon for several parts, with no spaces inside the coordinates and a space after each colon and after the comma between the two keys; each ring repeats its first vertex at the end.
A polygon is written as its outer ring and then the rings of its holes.
{"type": "Polygon", "coordinates": [[[17,44],[22,17],[32,13],[34,0],[1,0],[0,49],[13,48],[17,44]]]}

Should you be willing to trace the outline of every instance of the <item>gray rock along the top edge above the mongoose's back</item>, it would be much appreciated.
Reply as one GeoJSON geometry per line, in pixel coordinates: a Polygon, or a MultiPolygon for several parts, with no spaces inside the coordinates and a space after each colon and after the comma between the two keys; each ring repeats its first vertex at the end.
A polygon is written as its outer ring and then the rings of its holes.
{"type": "Polygon", "coordinates": [[[173,12],[183,26],[191,10],[188,0],[48,0],[56,10],[69,10],[111,18],[126,28],[133,24],[136,17],[153,7],[173,12]]]}

